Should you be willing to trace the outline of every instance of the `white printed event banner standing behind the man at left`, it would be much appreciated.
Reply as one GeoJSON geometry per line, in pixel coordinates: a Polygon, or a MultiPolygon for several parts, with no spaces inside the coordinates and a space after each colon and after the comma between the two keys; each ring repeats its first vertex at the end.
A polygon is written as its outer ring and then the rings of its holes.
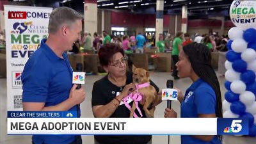
{"type": "Polygon", "coordinates": [[[4,5],[8,111],[22,110],[22,71],[42,38],[48,36],[51,12],[52,8],[4,5]],[[10,12],[25,12],[26,19],[8,19],[10,12]]]}

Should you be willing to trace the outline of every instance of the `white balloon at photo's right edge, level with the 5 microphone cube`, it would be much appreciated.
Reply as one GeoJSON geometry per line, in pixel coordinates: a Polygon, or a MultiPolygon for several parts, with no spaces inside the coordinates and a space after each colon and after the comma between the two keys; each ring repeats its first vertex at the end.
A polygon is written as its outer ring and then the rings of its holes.
{"type": "MultiPolygon", "coordinates": [[[[239,96],[239,100],[247,107],[255,103],[255,95],[250,91],[245,91],[239,96]]],[[[256,109],[255,109],[256,111],[256,109]]]]}

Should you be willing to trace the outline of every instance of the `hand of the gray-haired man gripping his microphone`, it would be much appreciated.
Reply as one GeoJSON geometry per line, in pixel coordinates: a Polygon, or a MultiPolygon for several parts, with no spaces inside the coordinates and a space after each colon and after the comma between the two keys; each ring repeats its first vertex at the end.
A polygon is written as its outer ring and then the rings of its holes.
{"type": "Polygon", "coordinates": [[[76,88],[77,84],[74,84],[70,90],[69,99],[72,99],[75,104],[81,104],[85,100],[85,92],[83,88],[79,90],[76,90],[76,88]]]}

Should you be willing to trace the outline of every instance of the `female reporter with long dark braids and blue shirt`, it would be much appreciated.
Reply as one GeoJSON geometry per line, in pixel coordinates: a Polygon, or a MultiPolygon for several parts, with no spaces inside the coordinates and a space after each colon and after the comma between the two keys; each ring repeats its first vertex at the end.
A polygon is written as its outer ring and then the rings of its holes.
{"type": "MultiPolygon", "coordinates": [[[[193,83],[185,96],[178,92],[181,118],[222,117],[220,84],[211,66],[211,52],[204,44],[183,47],[176,63],[178,76],[189,77],[193,83]]],[[[164,117],[177,117],[173,109],[165,109],[164,117]]],[[[181,136],[182,144],[221,143],[221,136],[181,136]]]]}

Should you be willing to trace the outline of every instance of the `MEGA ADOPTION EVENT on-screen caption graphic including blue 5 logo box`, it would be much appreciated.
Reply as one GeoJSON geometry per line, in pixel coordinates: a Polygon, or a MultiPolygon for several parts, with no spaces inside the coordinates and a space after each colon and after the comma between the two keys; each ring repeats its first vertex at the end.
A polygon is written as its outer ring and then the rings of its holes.
{"type": "Polygon", "coordinates": [[[244,134],[248,118],[76,118],[76,111],[8,111],[8,134],[244,134]]]}

